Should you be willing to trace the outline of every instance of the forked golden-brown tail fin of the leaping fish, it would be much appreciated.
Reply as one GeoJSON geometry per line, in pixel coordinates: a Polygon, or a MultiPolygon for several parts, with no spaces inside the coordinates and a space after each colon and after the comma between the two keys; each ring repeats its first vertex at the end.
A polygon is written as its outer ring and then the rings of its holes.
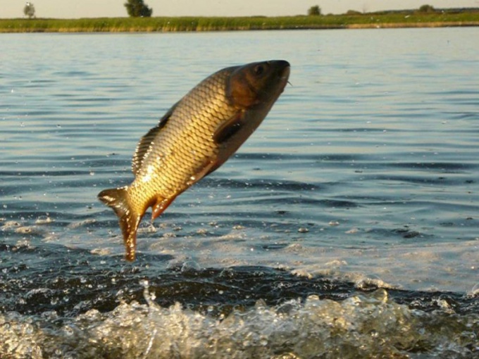
{"type": "Polygon", "coordinates": [[[135,213],[128,201],[127,187],[105,189],[98,194],[98,199],[113,208],[118,216],[123,242],[125,243],[125,259],[130,262],[135,260],[137,249],[137,229],[142,220],[142,213],[135,213]]]}

